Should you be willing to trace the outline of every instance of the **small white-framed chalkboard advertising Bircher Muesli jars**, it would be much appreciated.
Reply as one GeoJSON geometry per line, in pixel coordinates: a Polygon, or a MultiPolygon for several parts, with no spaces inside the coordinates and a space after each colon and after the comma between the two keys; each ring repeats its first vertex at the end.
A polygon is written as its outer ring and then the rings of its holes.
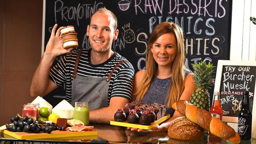
{"type": "Polygon", "coordinates": [[[219,61],[214,90],[221,93],[223,121],[237,122],[246,89],[250,91],[250,111],[254,111],[255,83],[256,61],[219,61]]]}

